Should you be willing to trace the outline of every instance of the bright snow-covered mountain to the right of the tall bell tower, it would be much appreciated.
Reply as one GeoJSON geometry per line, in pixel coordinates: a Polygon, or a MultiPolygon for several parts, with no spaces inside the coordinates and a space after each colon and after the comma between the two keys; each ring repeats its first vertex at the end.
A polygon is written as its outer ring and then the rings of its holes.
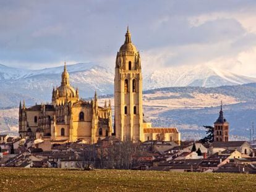
{"type": "Polygon", "coordinates": [[[171,86],[216,87],[253,82],[256,82],[256,78],[237,75],[216,67],[200,65],[155,70],[145,74],[143,86],[145,89],[150,90],[171,86]]]}

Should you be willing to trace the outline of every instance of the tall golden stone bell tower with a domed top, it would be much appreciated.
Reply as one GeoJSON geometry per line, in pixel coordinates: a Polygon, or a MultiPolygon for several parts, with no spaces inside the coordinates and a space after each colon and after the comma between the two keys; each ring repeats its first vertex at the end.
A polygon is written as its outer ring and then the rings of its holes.
{"type": "Polygon", "coordinates": [[[129,28],[116,56],[114,107],[116,137],[122,141],[143,141],[142,69],[129,28]]]}

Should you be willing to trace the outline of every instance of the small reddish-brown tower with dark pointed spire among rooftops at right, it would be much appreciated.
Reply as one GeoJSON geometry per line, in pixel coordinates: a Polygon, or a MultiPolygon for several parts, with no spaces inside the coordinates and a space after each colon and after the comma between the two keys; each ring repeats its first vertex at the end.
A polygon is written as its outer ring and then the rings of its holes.
{"type": "Polygon", "coordinates": [[[214,141],[228,141],[229,137],[229,123],[223,117],[222,102],[220,115],[214,123],[214,141]]]}

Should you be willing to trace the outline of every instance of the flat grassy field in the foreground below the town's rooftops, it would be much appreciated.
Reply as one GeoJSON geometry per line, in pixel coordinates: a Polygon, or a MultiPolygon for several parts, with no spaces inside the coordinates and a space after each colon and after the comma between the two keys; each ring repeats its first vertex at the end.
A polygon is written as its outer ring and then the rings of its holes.
{"type": "Polygon", "coordinates": [[[0,191],[255,191],[256,175],[0,169],[0,191]]]}

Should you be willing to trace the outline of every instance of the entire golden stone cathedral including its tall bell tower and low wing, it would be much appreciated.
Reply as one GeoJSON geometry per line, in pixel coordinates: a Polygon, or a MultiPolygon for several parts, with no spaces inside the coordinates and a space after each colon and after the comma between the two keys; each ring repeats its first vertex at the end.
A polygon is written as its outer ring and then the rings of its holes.
{"type": "Polygon", "coordinates": [[[96,92],[92,101],[79,99],[79,90],[70,86],[66,62],[61,79],[61,86],[53,88],[51,104],[25,107],[25,102],[23,105],[20,102],[21,138],[96,143],[99,139],[114,135],[121,141],[161,140],[180,143],[181,133],[177,128],[153,128],[143,118],[142,65],[140,53],[132,44],[129,28],[116,56],[114,125],[110,101],[108,106],[106,103],[104,107],[98,106],[96,92]]]}

